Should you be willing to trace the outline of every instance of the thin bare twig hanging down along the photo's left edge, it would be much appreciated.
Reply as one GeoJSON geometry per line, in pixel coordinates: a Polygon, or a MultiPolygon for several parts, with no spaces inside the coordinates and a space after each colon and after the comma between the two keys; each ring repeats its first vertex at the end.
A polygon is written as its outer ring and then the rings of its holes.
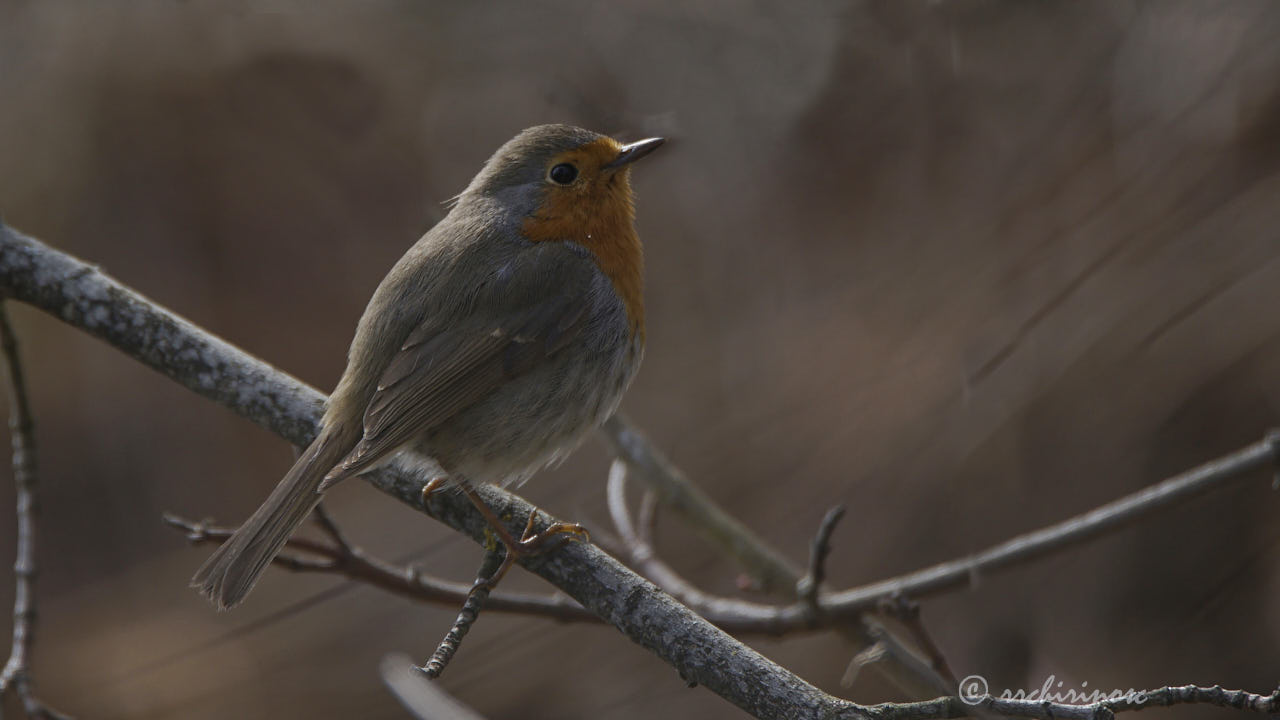
{"type": "Polygon", "coordinates": [[[13,442],[13,484],[18,495],[18,548],[13,564],[13,644],[0,671],[0,697],[13,692],[28,717],[65,717],[36,697],[31,680],[31,650],[36,642],[36,421],[27,400],[27,380],[18,356],[18,337],[9,314],[0,304],[0,350],[4,352],[9,386],[9,433],[13,442]]]}

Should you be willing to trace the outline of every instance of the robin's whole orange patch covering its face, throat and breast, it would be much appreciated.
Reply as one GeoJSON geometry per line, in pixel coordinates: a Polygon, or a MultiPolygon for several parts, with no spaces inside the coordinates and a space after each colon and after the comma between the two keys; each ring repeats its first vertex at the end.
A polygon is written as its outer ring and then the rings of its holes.
{"type": "Polygon", "coordinates": [[[567,184],[548,177],[543,202],[525,219],[521,233],[532,242],[576,242],[588,249],[622,299],[632,333],[643,336],[644,254],[635,231],[631,170],[604,168],[620,149],[604,137],[553,158],[545,173],[570,164],[577,177],[567,184]]]}

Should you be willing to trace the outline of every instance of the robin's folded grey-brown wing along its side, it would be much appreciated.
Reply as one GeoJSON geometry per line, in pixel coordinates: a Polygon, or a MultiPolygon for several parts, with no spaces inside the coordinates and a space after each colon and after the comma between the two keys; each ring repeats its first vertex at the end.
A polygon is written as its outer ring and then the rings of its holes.
{"type": "Polygon", "coordinates": [[[326,487],[370,469],[568,346],[588,324],[598,273],[566,246],[539,243],[479,290],[468,305],[483,310],[417,325],[379,378],[364,438],[329,473],[326,487]]]}

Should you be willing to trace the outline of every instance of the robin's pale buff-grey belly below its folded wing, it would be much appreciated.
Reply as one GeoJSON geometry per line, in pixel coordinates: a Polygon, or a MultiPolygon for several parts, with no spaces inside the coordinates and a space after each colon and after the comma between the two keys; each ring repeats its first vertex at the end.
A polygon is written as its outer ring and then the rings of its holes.
{"type": "Polygon", "coordinates": [[[526,375],[419,438],[416,450],[449,475],[471,482],[520,483],[563,460],[618,406],[640,364],[643,346],[561,352],[526,375]]]}

